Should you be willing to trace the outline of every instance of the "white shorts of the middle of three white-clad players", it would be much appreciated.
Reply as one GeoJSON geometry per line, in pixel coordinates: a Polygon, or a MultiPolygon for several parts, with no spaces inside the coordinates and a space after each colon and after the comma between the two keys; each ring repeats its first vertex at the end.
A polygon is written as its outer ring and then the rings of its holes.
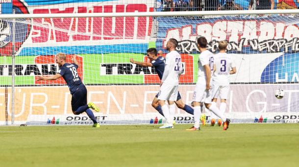
{"type": "Polygon", "coordinates": [[[196,84],[193,93],[193,101],[210,104],[212,102],[211,90],[206,90],[205,84],[196,84]]]}

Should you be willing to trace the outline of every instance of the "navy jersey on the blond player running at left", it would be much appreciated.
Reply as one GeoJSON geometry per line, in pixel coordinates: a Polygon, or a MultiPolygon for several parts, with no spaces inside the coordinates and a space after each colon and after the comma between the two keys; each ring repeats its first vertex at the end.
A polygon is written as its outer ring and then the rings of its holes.
{"type": "Polygon", "coordinates": [[[75,63],[65,63],[57,72],[67,82],[72,95],[75,93],[76,89],[83,84],[78,75],[77,69],[78,66],[75,63]]]}

